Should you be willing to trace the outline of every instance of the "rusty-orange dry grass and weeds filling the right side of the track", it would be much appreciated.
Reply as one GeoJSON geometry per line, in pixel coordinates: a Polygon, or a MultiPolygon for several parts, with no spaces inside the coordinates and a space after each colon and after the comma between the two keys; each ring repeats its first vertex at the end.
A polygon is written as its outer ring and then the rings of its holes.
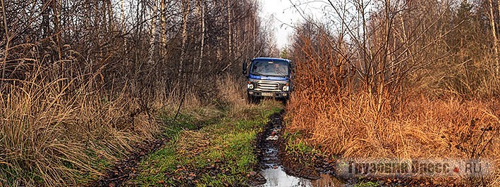
{"type": "MultiPolygon", "coordinates": [[[[378,96],[362,89],[348,89],[356,88],[351,83],[335,86],[339,85],[336,79],[329,82],[329,77],[324,76],[327,70],[311,70],[315,63],[297,65],[298,86],[287,106],[287,130],[304,135],[298,141],[342,158],[481,158],[493,160],[500,168],[498,99],[436,94],[425,85],[415,89],[404,86],[402,92],[384,92],[384,110],[377,110],[378,96]]],[[[494,81],[477,82],[487,87],[494,81]]],[[[498,186],[499,181],[497,176],[487,183],[498,186]]]]}

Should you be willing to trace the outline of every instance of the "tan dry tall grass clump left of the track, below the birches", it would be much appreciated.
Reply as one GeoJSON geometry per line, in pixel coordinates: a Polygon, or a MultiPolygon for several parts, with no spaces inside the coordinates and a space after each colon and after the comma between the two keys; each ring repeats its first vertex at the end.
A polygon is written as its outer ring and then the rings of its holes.
{"type": "Polygon", "coordinates": [[[92,80],[73,93],[75,79],[48,80],[38,70],[0,94],[0,182],[6,186],[75,184],[78,176],[101,173],[99,160],[113,162],[152,138],[159,126],[125,91],[109,96],[92,80]]]}

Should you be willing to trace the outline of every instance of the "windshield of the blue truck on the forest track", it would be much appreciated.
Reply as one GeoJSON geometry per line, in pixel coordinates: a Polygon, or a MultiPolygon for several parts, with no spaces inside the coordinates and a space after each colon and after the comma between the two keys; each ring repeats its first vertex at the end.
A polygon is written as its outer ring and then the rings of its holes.
{"type": "Polygon", "coordinates": [[[271,60],[254,60],[250,73],[264,76],[288,76],[288,62],[271,60]]]}

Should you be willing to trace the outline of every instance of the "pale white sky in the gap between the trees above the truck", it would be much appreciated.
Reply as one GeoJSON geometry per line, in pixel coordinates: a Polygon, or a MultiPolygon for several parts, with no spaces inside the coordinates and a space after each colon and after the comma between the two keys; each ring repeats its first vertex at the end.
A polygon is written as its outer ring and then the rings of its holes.
{"type": "Polygon", "coordinates": [[[297,5],[303,14],[313,15],[315,18],[321,16],[318,8],[324,6],[323,2],[311,0],[260,0],[262,11],[260,16],[264,23],[272,22],[274,36],[281,49],[289,44],[288,37],[293,33],[293,28],[288,25],[295,25],[303,20],[302,15],[293,4],[297,5]]]}

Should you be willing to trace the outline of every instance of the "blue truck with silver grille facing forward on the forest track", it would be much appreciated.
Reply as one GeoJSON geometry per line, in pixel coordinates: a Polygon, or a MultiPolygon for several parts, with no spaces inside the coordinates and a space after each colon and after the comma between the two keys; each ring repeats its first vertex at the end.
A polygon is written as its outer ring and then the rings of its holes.
{"type": "Polygon", "coordinates": [[[291,60],[283,58],[253,58],[248,67],[243,62],[243,75],[248,77],[248,101],[258,103],[261,98],[281,98],[284,101],[290,98],[291,60]],[[247,73],[247,69],[249,70],[247,73]]]}

